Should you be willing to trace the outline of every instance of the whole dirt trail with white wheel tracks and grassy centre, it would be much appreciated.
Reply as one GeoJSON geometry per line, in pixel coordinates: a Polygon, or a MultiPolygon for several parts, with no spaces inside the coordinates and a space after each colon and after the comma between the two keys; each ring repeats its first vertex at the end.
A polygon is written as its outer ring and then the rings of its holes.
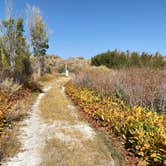
{"type": "Polygon", "coordinates": [[[44,88],[22,122],[21,151],[3,166],[114,166],[111,152],[64,93],[66,78],[44,88]]]}

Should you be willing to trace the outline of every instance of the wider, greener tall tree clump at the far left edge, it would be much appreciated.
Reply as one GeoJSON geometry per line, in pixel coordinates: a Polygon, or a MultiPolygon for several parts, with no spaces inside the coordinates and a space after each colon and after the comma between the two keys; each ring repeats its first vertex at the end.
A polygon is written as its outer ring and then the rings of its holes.
{"type": "Polygon", "coordinates": [[[30,74],[30,51],[24,36],[23,19],[12,17],[3,20],[0,36],[0,67],[20,78],[30,74]]]}

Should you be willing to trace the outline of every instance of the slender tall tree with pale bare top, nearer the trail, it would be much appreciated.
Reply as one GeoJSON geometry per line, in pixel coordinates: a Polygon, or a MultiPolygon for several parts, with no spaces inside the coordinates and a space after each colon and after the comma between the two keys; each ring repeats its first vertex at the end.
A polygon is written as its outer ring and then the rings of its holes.
{"type": "Polygon", "coordinates": [[[38,59],[38,75],[43,74],[44,58],[48,45],[48,34],[40,9],[35,6],[27,7],[28,25],[31,35],[31,44],[33,47],[34,56],[38,59]]]}

